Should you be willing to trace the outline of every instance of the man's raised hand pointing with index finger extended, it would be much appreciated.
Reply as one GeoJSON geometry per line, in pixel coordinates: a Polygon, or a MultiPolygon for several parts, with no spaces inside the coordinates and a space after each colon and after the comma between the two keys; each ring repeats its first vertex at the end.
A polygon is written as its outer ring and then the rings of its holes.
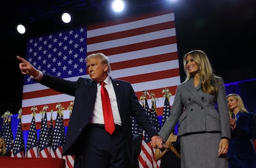
{"type": "Polygon", "coordinates": [[[17,59],[20,60],[19,68],[22,74],[28,74],[36,78],[39,75],[39,71],[31,65],[27,60],[24,58],[17,56],[17,59]]]}

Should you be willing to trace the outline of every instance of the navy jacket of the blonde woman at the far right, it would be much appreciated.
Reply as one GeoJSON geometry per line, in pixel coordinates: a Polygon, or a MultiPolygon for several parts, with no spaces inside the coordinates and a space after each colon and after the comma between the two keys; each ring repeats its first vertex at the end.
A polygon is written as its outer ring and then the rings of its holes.
{"type": "Polygon", "coordinates": [[[256,153],[252,139],[255,132],[254,113],[237,113],[236,127],[231,132],[231,141],[229,142],[228,159],[234,156],[234,153],[241,159],[256,159],[256,153]]]}

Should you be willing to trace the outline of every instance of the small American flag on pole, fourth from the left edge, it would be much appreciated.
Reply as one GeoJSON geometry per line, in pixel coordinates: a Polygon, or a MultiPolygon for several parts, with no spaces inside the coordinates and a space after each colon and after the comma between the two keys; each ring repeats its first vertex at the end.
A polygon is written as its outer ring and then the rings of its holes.
{"type": "Polygon", "coordinates": [[[48,122],[47,122],[47,115],[46,109],[48,106],[44,106],[44,109],[41,111],[43,115],[41,121],[41,128],[40,128],[40,136],[39,136],[39,158],[49,158],[50,154],[50,144],[48,138],[48,122]]]}

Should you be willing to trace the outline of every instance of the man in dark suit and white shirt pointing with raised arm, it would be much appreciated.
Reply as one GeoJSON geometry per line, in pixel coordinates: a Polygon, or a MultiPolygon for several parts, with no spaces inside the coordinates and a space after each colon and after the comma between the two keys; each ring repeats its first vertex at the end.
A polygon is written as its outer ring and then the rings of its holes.
{"type": "Polygon", "coordinates": [[[150,123],[131,84],[109,76],[111,66],[106,55],[88,55],[85,62],[90,79],[79,78],[77,81],[67,81],[43,73],[36,70],[27,60],[19,56],[17,58],[21,62],[19,68],[22,74],[28,74],[40,84],[75,97],[63,150],[63,155],[75,154],[74,167],[132,167],[134,156],[131,116],[147,131],[153,147],[162,147],[162,139],[150,123]],[[106,122],[101,103],[103,81],[113,112],[113,134],[105,130],[106,122]]]}

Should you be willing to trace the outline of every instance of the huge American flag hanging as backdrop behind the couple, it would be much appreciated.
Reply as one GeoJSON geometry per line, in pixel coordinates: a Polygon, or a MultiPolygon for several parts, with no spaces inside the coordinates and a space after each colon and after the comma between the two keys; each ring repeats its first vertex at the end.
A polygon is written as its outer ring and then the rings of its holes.
{"type": "MultiPolygon", "coordinates": [[[[27,41],[25,58],[38,70],[74,81],[79,77],[88,77],[84,59],[95,52],[108,55],[113,70],[110,75],[129,81],[137,95],[148,90],[161,97],[161,90],[168,87],[174,96],[177,84],[181,82],[174,13],[171,10],[31,38],[27,41]]],[[[73,100],[74,97],[42,86],[30,76],[25,76],[22,123],[30,123],[32,106],[41,109],[43,105],[48,105],[49,109],[55,109],[56,103],[68,106],[73,100]]],[[[161,115],[163,105],[163,100],[160,100],[158,115],[161,115]]],[[[41,121],[40,117],[36,114],[36,122],[41,121]]],[[[69,119],[68,110],[64,110],[64,119],[69,119]]]]}

